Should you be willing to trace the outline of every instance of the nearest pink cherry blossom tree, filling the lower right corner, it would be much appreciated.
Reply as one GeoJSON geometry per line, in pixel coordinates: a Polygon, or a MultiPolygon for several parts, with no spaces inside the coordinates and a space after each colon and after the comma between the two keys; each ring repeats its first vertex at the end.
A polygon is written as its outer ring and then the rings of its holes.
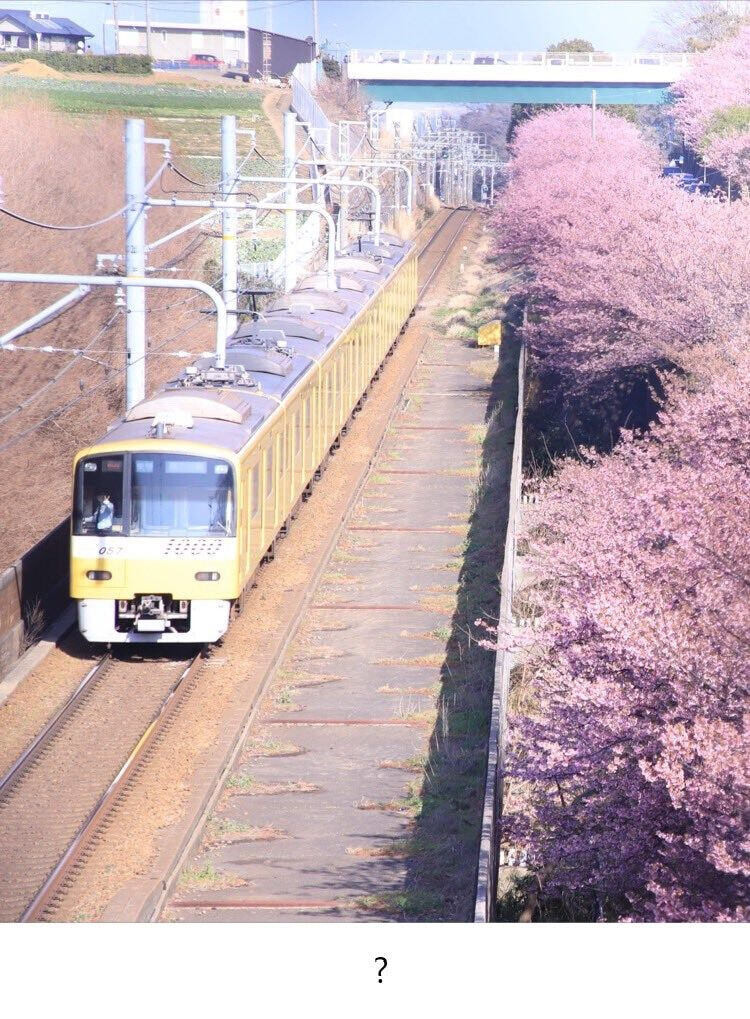
{"type": "Polygon", "coordinates": [[[542,626],[505,835],[605,916],[750,918],[750,358],[709,360],[527,515],[542,626]]]}

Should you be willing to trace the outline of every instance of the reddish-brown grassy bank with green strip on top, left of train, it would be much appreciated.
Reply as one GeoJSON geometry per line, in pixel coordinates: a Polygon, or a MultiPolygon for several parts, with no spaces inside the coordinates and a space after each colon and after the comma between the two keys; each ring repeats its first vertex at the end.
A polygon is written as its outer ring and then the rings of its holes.
{"type": "MultiPolygon", "coordinates": [[[[219,176],[218,162],[190,159],[189,155],[218,155],[218,119],[223,113],[235,113],[240,127],[255,129],[258,149],[277,165],[278,144],[263,113],[262,100],[259,90],[219,83],[2,74],[0,175],[4,203],[48,223],[91,222],[116,209],[123,192],[125,116],[144,117],[151,137],[170,138],[175,163],[196,179],[215,180],[219,176]]],[[[250,139],[240,136],[240,157],[249,147],[250,139]]],[[[152,173],[159,153],[150,149],[152,173]]],[[[260,172],[269,172],[260,159],[255,163],[260,172]]],[[[164,186],[196,191],[171,172],[165,174],[164,186]]],[[[158,193],[158,184],[156,189],[158,193]]],[[[183,210],[154,212],[149,220],[150,239],[189,218],[183,210]]],[[[266,228],[271,223],[263,225],[266,228]]],[[[0,225],[0,264],[16,271],[89,272],[95,268],[97,252],[121,251],[122,243],[120,219],[72,233],[5,220],[0,225]]],[[[218,239],[204,237],[195,251],[182,254],[190,244],[190,236],[177,238],[155,253],[153,264],[179,258],[182,274],[213,282],[218,275],[218,239]]],[[[31,285],[13,287],[12,293],[10,287],[3,287],[3,291],[0,331],[38,311],[45,299],[52,301],[62,292],[52,289],[42,294],[38,286],[31,285]]],[[[146,371],[147,389],[152,392],[173,375],[178,364],[168,352],[178,347],[206,350],[212,342],[212,325],[196,314],[200,303],[195,298],[178,299],[163,291],[152,293],[148,304],[146,371]]],[[[68,512],[73,452],[100,435],[104,425],[121,413],[124,322],[115,312],[112,296],[96,292],[25,340],[36,347],[45,343],[91,346],[89,360],[61,354],[3,355],[0,568],[31,547],[68,512]],[[18,514],[18,505],[32,509],[18,514]]]]}

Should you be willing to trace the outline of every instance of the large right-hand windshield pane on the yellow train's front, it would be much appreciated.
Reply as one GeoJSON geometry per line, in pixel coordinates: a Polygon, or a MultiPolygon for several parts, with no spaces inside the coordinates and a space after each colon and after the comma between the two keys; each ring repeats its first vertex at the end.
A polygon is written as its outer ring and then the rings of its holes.
{"type": "Polygon", "coordinates": [[[135,452],[130,459],[130,534],[233,533],[229,464],[176,453],[135,452]]]}

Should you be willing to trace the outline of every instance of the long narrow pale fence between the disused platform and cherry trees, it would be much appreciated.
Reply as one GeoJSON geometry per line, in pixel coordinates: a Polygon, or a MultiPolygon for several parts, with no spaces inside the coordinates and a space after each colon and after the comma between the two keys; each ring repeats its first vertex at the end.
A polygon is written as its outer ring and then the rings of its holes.
{"type": "MultiPolygon", "coordinates": [[[[524,382],[526,378],[526,348],[519,354],[518,406],[513,441],[511,492],[507,507],[507,530],[502,554],[500,575],[500,610],[497,624],[498,637],[512,631],[513,599],[516,588],[516,547],[521,523],[521,482],[524,446],[524,382]]],[[[497,866],[499,862],[499,821],[502,814],[502,779],[505,768],[505,731],[507,694],[511,669],[514,664],[512,650],[498,650],[495,659],[494,687],[492,691],[492,718],[490,721],[487,754],[487,777],[484,788],[482,838],[479,845],[477,894],[474,902],[474,922],[491,923],[495,918],[497,901],[497,866]]]]}

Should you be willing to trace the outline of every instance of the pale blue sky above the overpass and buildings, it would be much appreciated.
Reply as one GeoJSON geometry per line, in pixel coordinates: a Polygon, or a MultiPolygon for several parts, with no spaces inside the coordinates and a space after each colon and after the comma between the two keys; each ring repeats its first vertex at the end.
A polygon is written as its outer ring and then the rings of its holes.
{"type": "MultiPolygon", "coordinates": [[[[638,49],[668,0],[319,0],[322,39],[353,47],[543,49],[580,36],[597,49],[638,49]]],[[[112,16],[102,0],[0,0],[0,7],[64,14],[95,35],[112,16]]],[[[118,3],[122,17],[144,17],[144,3],[118,3]]],[[[310,0],[250,0],[250,23],[292,36],[312,34],[310,0]]],[[[198,3],[152,0],[154,21],[197,20],[198,3]]],[[[112,46],[109,35],[108,47],[112,46]]]]}

